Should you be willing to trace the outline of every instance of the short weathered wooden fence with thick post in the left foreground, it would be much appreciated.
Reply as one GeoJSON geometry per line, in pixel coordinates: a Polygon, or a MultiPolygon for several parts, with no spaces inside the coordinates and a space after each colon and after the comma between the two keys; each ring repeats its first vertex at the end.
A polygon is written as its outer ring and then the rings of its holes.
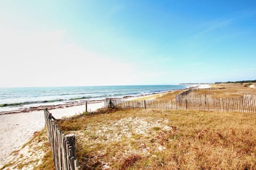
{"type": "Polygon", "coordinates": [[[55,170],[78,170],[75,150],[75,135],[65,135],[54,123],[55,118],[44,109],[47,139],[51,144],[55,170]]]}

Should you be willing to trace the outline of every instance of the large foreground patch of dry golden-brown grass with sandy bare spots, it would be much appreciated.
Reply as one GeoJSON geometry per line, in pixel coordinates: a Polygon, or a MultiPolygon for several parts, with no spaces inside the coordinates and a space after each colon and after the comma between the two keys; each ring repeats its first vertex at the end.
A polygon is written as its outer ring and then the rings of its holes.
{"type": "Polygon", "coordinates": [[[249,113],[116,109],[58,124],[66,134],[76,134],[83,169],[256,169],[255,118],[249,113]]]}

